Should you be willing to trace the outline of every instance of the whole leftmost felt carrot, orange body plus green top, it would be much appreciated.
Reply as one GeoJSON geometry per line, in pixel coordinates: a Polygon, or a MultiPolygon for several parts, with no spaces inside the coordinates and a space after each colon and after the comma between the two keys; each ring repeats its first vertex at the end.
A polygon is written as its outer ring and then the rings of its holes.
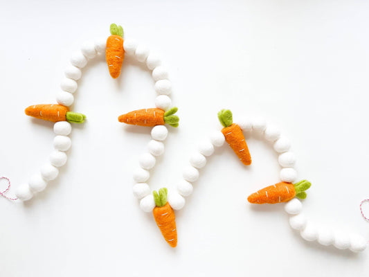
{"type": "Polygon", "coordinates": [[[24,112],[27,116],[52,122],[69,121],[71,123],[83,123],[86,118],[84,114],[69,111],[69,107],[57,104],[32,105],[24,112]]]}

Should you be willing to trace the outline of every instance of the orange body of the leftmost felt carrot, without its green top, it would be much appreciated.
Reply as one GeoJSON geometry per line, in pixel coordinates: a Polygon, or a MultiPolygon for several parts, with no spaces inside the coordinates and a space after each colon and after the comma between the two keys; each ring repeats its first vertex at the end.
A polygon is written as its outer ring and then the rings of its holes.
{"type": "Polygon", "coordinates": [[[52,122],[66,121],[66,113],[69,107],[57,104],[33,105],[26,108],[27,116],[44,119],[52,122]]]}

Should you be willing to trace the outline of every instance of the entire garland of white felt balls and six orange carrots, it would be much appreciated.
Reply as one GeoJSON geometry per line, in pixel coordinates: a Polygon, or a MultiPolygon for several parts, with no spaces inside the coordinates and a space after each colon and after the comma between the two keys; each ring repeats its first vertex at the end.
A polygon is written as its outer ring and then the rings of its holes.
{"type": "MultiPolygon", "coordinates": [[[[155,100],[155,108],[139,109],[122,114],[118,117],[120,123],[152,127],[152,139],[147,144],[147,152],[139,159],[139,166],[133,172],[135,184],[132,188],[133,195],[140,200],[140,207],[147,213],[152,213],[154,220],[161,231],[165,241],[171,247],[177,246],[177,226],[175,211],[180,210],[186,204],[186,199],[192,194],[193,182],[199,179],[201,168],[207,163],[207,158],[215,148],[228,143],[238,159],[245,165],[252,163],[249,146],[246,143],[244,132],[258,132],[266,141],[273,144],[273,149],[278,153],[278,163],[281,166],[280,180],[271,186],[267,186],[251,194],[248,201],[251,204],[278,204],[285,202],[285,212],[290,216],[289,224],[292,229],[298,231],[301,237],[307,241],[317,241],[322,245],[333,245],[337,249],[350,249],[354,252],[366,249],[366,240],[358,234],[349,234],[340,230],[331,230],[316,226],[314,222],[307,220],[303,213],[303,204],[299,199],[307,197],[307,190],[311,184],[307,180],[297,181],[297,172],[294,168],[296,156],[291,151],[291,142],[280,134],[280,130],[273,125],[267,125],[265,120],[240,120],[233,122],[232,112],[222,109],[218,113],[221,130],[210,134],[209,139],[199,143],[197,152],[194,152],[188,166],[183,169],[183,179],[177,183],[177,191],[160,188],[157,192],[151,192],[147,181],[150,179],[150,171],[156,165],[156,157],[160,157],[164,151],[164,141],[168,136],[168,127],[178,127],[179,117],[176,115],[177,107],[172,107],[170,94],[172,83],[168,80],[168,71],[161,66],[161,59],[156,53],[151,53],[149,48],[138,44],[134,39],[123,39],[123,28],[111,24],[107,39],[98,39],[96,42],[85,42],[80,51],[73,53],[71,64],[65,70],[65,78],[60,83],[61,91],[57,93],[57,104],[31,105],[25,113],[42,120],[51,121],[54,124],[53,140],[54,151],[49,161],[42,166],[39,172],[33,175],[28,182],[18,186],[15,191],[17,199],[27,201],[35,194],[44,190],[48,181],[52,181],[59,175],[59,168],[68,160],[66,152],[71,148],[69,134],[72,131],[71,123],[84,123],[86,116],[70,110],[74,102],[74,93],[78,90],[78,80],[82,77],[81,69],[89,60],[97,55],[104,55],[107,61],[109,73],[112,78],[118,78],[121,73],[125,55],[131,55],[138,62],[146,64],[152,71],[155,82],[154,90],[158,94],[155,100]]],[[[0,195],[11,200],[17,200],[6,196],[10,188],[0,192],[0,195]]],[[[366,201],[366,200],[365,200],[366,201]]]]}

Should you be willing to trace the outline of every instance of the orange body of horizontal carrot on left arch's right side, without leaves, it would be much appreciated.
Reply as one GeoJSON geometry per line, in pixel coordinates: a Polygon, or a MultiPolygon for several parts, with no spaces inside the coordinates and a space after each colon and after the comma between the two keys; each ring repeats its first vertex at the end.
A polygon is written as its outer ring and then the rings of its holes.
{"type": "Polygon", "coordinates": [[[162,109],[138,109],[122,114],[118,117],[119,122],[130,125],[156,126],[164,125],[164,111],[162,109]]]}

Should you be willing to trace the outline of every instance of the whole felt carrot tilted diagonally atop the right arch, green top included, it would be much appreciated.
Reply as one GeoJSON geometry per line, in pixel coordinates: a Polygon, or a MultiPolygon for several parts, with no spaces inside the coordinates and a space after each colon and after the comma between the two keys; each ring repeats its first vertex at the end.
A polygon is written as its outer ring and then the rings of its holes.
{"type": "Polygon", "coordinates": [[[233,123],[232,112],[229,109],[222,109],[218,113],[218,118],[224,126],[222,133],[226,142],[245,166],[251,165],[251,155],[244,139],[244,134],[240,126],[233,123]]]}

